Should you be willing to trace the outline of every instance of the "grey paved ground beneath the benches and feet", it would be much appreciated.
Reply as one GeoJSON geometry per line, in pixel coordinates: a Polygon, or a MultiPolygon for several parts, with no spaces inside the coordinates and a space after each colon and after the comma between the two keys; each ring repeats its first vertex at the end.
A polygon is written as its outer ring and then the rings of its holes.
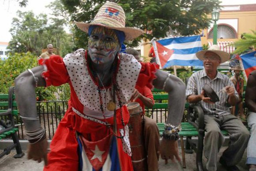
{"type": "MultiPolygon", "coordinates": [[[[222,154],[226,147],[223,147],[219,153],[219,157],[222,154]]],[[[181,149],[180,149],[181,151],[181,149]]],[[[26,153],[26,151],[25,151],[26,153]]],[[[23,158],[13,158],[15,155],[15,151],[12,151],[9,155],[5,155],[3,158],[0,159],[0,171],[42,171],[43,170],[43,163],[38,164],[33,160],[27,160],[27,153],[23,158]]],[[[180,164],[172,163],[170,160],[168,164],[164,164],[164,160],[160,159],[159,161],[159,171],[196,171],[195,165],[195,153],[193,154],[186,154],[186,169],[182,169],[180,164]]],[[[206,159],[203,158],[204,165],[206,159]]],[[[246,152],[243,155],[243,159],[237,165],[241,171],[248,171],[247,166],[245,165],[246,161],[246,152]]],[[[71,170],[72,171],[72,170],[71,170]]],[[[222,168],[221,164],[218,164],[217,171],[225,171],[222,168]]]]}

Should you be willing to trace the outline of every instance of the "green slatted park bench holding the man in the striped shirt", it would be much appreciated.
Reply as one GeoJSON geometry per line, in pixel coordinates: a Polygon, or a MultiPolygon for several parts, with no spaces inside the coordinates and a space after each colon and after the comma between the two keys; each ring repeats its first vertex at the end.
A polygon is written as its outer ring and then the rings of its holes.
{"type": "MultiPolygon", "coordinates": [[[[246,86],[244,86],[244,92],[243,92],[243,108],[244,109],[246,108],[246,105],[244,103],[245,90],[246,90],[246,86]]],[[[161,101],[168,100],[167,93],[155,94],[156,92],[162,92],[162,90],[154,89],[152,92],[153,92],[154,100],[161,100],[161,101]]],[[[155,103],[152,111],[156,109],[165,109],[167,111],[168,103],[155,103]]],[[[185,152],[193,153],[192,150],[194,150],[196,152],[197,171],[203,171],[202,150],[203,150],[203,138],[204,138],[204,118],[202,118],[203,117],[202,108],[196,105],[189,105],[189,103],[186,103],[185,110],[188,111],[187,112],[188,122],[181,123],[182,131],[179,132],[179,135],[181,138],[181,147],[182,147],[182,165],[183,165],[183,168],[186,168],[185,152]],[[198,113],[200,112],[201,112],[201,115],[199,116],[198,113]],[[185,145],[183,140],[184,137],[186,137],[185,145]],[[198,137],[197,144],[192,142],[192,137],[198,137]]],[[[146,109],[146,112],[148,111],[149,109],[146,109]]],[[[160,135],[162,135],[162,132],[164,131],[164,123],[165,122],[157,122],[160,135]]],[[[228,132],[224,130],[222,130],[222,134],[224,136],[229,135],[228,132]]]]}

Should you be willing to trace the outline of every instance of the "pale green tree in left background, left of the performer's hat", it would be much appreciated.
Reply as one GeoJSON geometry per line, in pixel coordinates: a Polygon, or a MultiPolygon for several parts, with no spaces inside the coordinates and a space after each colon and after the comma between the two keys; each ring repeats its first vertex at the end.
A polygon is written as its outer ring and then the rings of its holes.
{"type": "Polygon", "coordinates": [[[51,18],[48,22],[47,15],[36,16],[32,11],[17,11],[17,15],[13,18],[12,39],[7,47],[12,53],[31,52],[39,56],[48,44],[53,44],[61,56],[73,51],[73,38],[64,31],[64,19],[51,18]]]}

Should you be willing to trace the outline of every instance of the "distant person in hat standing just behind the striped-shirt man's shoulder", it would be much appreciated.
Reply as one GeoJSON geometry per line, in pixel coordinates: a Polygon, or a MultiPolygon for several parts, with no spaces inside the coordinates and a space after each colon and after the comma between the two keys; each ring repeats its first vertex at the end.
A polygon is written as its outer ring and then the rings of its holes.
{"type": "Polygon", "coordinates": [[[234,76],[232,76],[230,80],[235,85],[236,92],[238,93],[238,96],[239,96],[239,102],[232,107],[231,114],[235,115],[236,117],[240,115],[241,119],[245,119],[245,115],[243,113],[243,82],[244,80],[240,76],[243,70],[240,66],[239,60],[237,59],[233,59],[232,61],[230,61],[229,67],[234,73],[234,76]]]}

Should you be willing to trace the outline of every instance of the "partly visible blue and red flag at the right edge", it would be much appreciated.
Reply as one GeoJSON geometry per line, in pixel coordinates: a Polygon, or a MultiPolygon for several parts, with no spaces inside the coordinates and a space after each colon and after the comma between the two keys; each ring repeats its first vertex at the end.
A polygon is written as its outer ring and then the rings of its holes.
{"type": "Polygon", "coordinates": [[[250,72],[256,70],[256,51],[245,53],[240,56],[243,64],[244,72],[249,77],[250,72]]]}

